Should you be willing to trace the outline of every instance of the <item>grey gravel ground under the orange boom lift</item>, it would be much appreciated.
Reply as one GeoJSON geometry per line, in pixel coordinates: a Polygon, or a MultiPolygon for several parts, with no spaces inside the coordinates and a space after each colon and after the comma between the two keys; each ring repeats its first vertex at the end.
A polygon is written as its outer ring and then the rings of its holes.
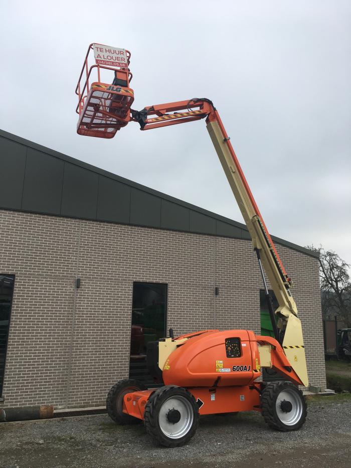
{"type": "Polygon", "coordinates": [[[235,466],[349,468],[351,398],[309,402],[305,425],[282,433],[256,412],[202,416],[189,445],[155,446],[140,425],[118,426],[106,414],[0,424],[2,468],[160,468],[235,466]]]}

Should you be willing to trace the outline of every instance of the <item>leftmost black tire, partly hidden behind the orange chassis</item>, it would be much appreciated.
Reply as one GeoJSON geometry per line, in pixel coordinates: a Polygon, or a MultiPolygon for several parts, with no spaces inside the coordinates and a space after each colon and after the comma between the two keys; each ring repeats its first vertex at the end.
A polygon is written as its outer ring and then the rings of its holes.
{"type": "Polygon", "coordinates": [[[137,424],[141,422],[140,419],[129,416],[123,413],[123,397],[126,393],[135,392],[138,390],[146,390],[138,380],[124,379],[117,382],[107,394],[106,409],[107,414],[112,421],[117,424],[137,424]]]}

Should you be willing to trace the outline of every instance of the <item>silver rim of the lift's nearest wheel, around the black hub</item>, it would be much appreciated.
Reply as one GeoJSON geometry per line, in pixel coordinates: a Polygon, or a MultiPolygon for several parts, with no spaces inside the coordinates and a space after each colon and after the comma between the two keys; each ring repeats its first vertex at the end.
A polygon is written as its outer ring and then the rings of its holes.
{"type": "Polygon", "coordinates": [[[168,398],[161,406],[158,413],[158,424],[163,434],[169,439],[180,439],[191,429],[194,421],[193,407],[187,398],[174,395],[168,398]],[[172,423],[167,419],[170,410],[178,410],[181,413],[179,422],[172,423]]]}

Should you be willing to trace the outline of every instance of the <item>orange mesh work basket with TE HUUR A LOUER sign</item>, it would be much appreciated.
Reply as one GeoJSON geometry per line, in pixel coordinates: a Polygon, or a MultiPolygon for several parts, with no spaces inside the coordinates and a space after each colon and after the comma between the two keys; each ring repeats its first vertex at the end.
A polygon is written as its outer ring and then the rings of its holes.
{"type": "Polygon", "coordinates": [[[134,100],[134,92],[129,88],[132,78],[129,61],[130,52],[125,49],[90,44],[76,87],[77,133],[112,138],[129,122],[134,100]],[[89,67],[91,51],[95,64],[89,67]]]}

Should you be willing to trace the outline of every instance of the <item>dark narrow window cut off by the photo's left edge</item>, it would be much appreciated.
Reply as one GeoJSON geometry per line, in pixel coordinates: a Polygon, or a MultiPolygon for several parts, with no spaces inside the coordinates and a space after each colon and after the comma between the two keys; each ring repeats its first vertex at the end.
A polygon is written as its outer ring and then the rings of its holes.
{"type": "Polygon", "coordinates": [[[0,396],[3,393],[6,349],[8,346],[15,276],[0,275],[0,396]]]}

